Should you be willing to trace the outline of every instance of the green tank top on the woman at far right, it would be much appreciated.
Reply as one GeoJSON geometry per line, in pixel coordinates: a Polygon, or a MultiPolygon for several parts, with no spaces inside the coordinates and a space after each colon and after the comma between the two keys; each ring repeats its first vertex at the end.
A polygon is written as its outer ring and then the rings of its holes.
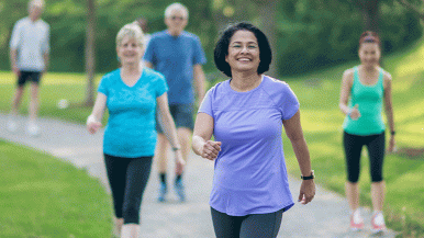
{"type": "Polygon", "coordinates": [[[378,81],[373,86],[362,84],[359,80],[358,67],[355,67],[354,70],[349,107],[358,104],[360,117],[354,121],[346,115],[343,128],[346,133],[358,136],[380,134],[386,128],[381,115],[384,93],[383,70],[380,69],[378,81]]]}

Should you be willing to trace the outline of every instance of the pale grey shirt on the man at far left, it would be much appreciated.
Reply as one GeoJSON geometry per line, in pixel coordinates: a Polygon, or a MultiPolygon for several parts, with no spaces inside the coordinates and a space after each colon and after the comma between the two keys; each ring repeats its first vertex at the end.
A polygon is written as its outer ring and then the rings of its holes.
{"type": "Polygon", "coordinates": [[[43,71],[43,54],[49,52],[49,25],[43,20],[30,18],[19,20],[12,31],[10,48],[16,49],[16,65],[20,70],[43,71]]]}

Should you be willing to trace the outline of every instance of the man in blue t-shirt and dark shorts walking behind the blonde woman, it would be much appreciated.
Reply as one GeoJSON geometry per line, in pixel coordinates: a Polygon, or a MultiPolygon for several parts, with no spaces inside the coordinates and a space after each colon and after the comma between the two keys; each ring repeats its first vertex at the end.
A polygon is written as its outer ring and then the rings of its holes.
{"type": "MultiPolygon", "coordinates": [[[[177,125],[181,151],[187,161],[190,151],[190,138],[193,129],[194,91],[198,102],[204,95],[204,72],[202,65],[207,59],[197,35],[183,31],[188,23],[188,10],[180,3],[172,3],[165,10],[167,30],[152,35],[144,55],[146,66],[161,72],[168,83],[169,107],[177,125]]],[[[160,178],[158,201],[165,201],[167,193],[166,171],[169,143],[158,127],[156,156],[160,178]]],[[[176,174],[175,189],[185,201],[182,173],[176,174]]]]}

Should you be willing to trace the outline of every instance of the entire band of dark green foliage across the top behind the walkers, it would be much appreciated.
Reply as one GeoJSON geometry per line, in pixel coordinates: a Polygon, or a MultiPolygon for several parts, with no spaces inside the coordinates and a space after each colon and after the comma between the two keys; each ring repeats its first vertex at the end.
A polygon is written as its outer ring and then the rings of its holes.
{"type": "MultiPolygon", "coordinates": [[[[398,3],[380,0],[380,30],[384,53],[393,53],[422,35],[419,16],[398,3]]],[[[415,5],[420,0],[402,0],[415,5]]],[[[164,11],[171,0],[97,0],[96,64],[98,72],[118,67],[114,38],[125,23],[138,16],[148,20],[149,31],[165,30],[164,11]]],[[[207,53],[207,71],[214,69],[213,48],[219,30],[230,22],[250,21],[261,26],[270,14],[260,11],[269,1],[181,0],[189,9],[187,31],[199,35],[207,53]]],[[[362,31],[359,5],[365,0],[284,0],[274,20],[275,61],[279,73],[289,76],[357,58],[362,31]]],[[[10,70],[9,38],[13,24],[25,16],[27,0],[0,2],[0,69],[10,70]]],[[[43,19],[51,24],[51,71],[85,70],[87,5],[85,0],[46,0],[43,19]]]]}

